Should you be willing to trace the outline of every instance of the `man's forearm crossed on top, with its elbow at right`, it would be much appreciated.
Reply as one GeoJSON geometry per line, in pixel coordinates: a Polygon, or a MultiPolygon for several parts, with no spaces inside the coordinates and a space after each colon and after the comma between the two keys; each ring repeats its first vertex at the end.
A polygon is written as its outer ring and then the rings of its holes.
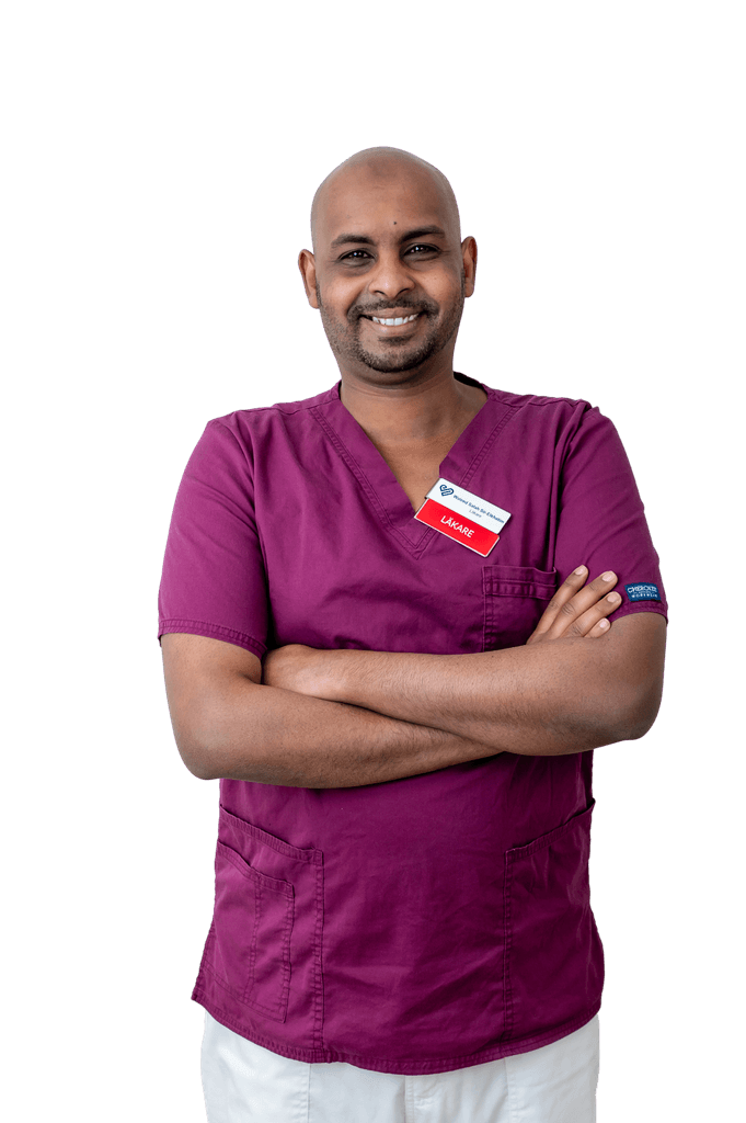
{"type": "MultiPolygon", "coordinates": [[[[624,622],[615,624],[620,629],[624,622]]],[[[621,629],[620,629],[621,630],[621,629]]],[[[653,660],[619,659],[610,637],[477,655],[319,652],[320,696],[532,756],[642,736],[657,709],[653,660]]]]}

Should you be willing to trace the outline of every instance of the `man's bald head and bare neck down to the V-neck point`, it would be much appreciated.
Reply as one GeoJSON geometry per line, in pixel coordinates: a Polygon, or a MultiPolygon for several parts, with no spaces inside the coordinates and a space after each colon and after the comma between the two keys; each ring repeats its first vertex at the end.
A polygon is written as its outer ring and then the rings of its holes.
{"type": "Polygon", "coordinates": [[[298,268],[340,369],[342,403],[416,510],[487,398],[453,377],[477,243],[461,239],[445,177],[397,149],[335,168],[314,198],[312,235],[314,253],[301,250],[298,268]],[[414,313],[402,327],[372,321],[414,313]]]}

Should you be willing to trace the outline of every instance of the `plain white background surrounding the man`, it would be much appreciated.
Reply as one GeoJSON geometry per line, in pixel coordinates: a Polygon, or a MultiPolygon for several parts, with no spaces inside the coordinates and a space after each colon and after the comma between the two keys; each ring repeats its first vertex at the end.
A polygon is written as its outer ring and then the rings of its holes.
{"type": "Polygon", "coordinates": [[[478,239],[458,368],[588,398],[627,446],[672,622],[656,725],[596,758],[599,1120],[736,1116],[744,22],[6,4],[8,1117],[204,1121],[218,785],[172,739],[163,548],[209,418],[335,381],[295,258],[317,183],[376,144],[440,166],[478,239]]]}

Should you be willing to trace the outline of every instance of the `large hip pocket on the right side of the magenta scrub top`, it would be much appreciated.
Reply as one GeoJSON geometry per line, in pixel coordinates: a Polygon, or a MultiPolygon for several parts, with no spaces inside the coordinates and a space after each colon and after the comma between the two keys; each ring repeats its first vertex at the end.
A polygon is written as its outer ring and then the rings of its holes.
{"type": "Polygon", "coordinates": [[[593,805],[505,855],[507,1038],[562,1025],[600,1001],[604,949],[588,868],[593,805]]]}

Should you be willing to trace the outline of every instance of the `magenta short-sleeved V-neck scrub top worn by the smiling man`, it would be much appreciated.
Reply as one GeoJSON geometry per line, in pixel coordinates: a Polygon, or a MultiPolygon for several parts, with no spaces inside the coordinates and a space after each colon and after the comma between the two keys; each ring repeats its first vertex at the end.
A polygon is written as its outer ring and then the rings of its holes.
{"type": "MultiPolygon", "coordinates": [[[[667,615],[613,423],[586,401],[482,389],[440,475],[510,513],[487,557],[414,519],[339,384],[210,421],[174,504],[158,634],[259,658],[285,643],[515,647],[581,563],[618,575],[611,620],[667,615]]],[[[380,1072],[442,1072],[571,1033],[604,984],[592,757],[505,752],[350,788],[221,779],[192,997],[284,1057],[380,1072]]]]}

